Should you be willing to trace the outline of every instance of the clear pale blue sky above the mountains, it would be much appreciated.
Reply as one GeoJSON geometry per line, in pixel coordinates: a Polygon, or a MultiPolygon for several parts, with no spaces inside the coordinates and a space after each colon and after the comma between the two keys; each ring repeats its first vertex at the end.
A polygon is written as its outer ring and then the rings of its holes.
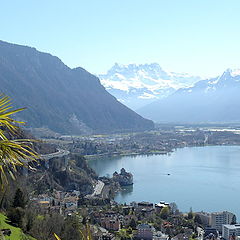
{"type": "Polygon", "coordinates": [[[240,68],[239,0],[0,0],[0,39],[105,73],[117,62],[212,77],[240,68]]]}

